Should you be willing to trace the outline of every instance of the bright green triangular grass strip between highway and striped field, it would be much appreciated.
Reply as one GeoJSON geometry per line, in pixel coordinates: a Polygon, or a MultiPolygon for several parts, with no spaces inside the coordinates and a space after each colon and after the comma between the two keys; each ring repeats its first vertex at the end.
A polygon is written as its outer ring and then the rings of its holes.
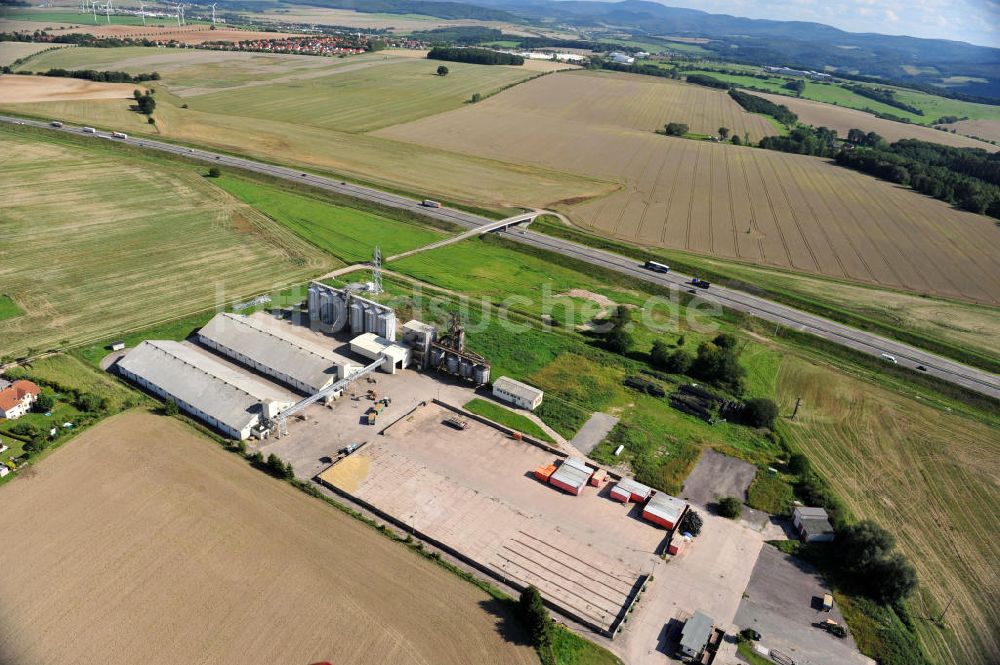
{"type": "Polygon", "coordinates": [[[392,256],[445,237],[434,229],[232,176],[213,182],[345,263],[371,260],[376,245],[382,256],[392,256]]]}

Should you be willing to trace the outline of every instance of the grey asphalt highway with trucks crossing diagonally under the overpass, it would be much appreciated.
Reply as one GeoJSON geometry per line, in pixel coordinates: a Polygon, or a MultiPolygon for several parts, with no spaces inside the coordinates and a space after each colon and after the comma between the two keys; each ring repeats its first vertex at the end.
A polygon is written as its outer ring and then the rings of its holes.
{"type": "MultiPolygon", "coordinates": [[[[62,127],[52,127],[48,122],[13,118],[2,115],[0,115],[0,121],[12,124],[41,127],[71,134],[83,134],[83,128],[79,125],[64,124],[62,127]]],[[[325,189],[327,191],[336,192],[353,198],[372,201],[374,203],[380,203],[393,208],[409,210],[425,217],[441,221],[453,222],[470,229],[480,226],[492,228],[496,225],[496,220],[487,219],[472,213],[445,207],[426,207],[422,205],[420,201],[408,199],[403,196],[382,192],[377,189],[355,185],[333,178],[312,175],[304,171],[285,166],[275,166],[273,164],[258,162],[242,157],[234,157],[222,153],[215,153],[208,150],[202,150],[200,148],[188,148],[162,141],[155,141],[145,137],[136,138],[130,136],[126,139],[119,139],[113,138],[111,134],[103,131],[84,135],[92,136],[94,137],[94,140],[121,141],[122,143],[127,143],[132,146],[183,155],[185,157],[198,159],[209,164],[215,164],[220,167],[230,166],[267,174],[285,180],[302,182],[312,187],[318,187],[320,189],[325,189]]],[[[964,388],[1000,399],[1000,377],[997,375],[985,370],[963,365],[901,342],[881,337],[879,335],[874,335],[862,330],[857,330],[850,326],[830,321],[807,312],[802,312],[786,305],[765,300],[743,291],[728,289],[716,285],[712,285],[708,289],[695,288],[690,284],[690,276],[675,272],[655,273],[646,270],[634,259],[629,259],[618,254],[613,254],[599,249],[592,249],[568,240],[553,238],[516,227],[497,232],[505,238],[524,245],[557,252],[592,265],[615,270],[617,272],[624,273],[647,282],[659,284],[661,286],[684,289],[686,291],[693,292],[699,298],[708,302],[718,303],[725,307],[756,316],[760,319],[780,324],[781,326],[808,332],[856,351],[867,353],[875,356],[876,358],[882,358],[885,362],[891,363],[893,361],[885,358],[884,356],[884,354],[888,354],[889,356],[892,356],[895,363],[899,365],[925,372],[964,388]]]]}

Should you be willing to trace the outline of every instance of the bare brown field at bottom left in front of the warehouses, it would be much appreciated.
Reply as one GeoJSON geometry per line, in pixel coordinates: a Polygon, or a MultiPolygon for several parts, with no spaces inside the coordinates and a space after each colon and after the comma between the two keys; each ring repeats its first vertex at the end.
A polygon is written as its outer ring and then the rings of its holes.
{"type": "Polygon", "coordinates": [[[176,419],[129,412],[0,487],[0,662],[537,663],[478,588],[176,419]]]}

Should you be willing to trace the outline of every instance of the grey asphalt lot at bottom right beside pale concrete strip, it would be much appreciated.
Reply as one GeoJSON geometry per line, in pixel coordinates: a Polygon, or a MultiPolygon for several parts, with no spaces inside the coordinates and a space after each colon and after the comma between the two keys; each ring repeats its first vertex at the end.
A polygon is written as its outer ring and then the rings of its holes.
{"type": "Polygon", "coordinates": [[[873,663],[858,652],[850,635],[839,639],[812,625],[826,619],[844,624],[836,605],[830,612],[818,609],[816,599],[825,593],[829,589],[811,566],[766,546],[735,622],[740,628],[757,630],[761,644],[791,656],[797,665],[873,663]]]}

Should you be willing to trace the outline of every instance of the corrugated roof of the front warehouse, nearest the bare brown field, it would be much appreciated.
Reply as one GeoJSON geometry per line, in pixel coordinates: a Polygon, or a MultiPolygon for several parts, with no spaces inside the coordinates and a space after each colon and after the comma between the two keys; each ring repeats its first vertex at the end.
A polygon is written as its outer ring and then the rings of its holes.
{"type": "Polygon", "coordinates": [[[180,342],[145,341],[118,366],[237,431],[253,421],[260,402],[291,404],[288,393],[180,342]]]}

